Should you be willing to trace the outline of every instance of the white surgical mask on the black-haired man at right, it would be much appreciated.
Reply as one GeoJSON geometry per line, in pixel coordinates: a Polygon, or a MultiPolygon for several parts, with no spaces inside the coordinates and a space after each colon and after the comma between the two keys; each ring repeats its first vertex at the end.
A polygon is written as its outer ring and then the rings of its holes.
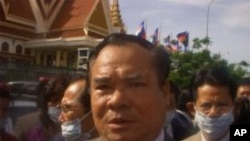
{"type": "Polygon", "coordinates": [[[217,118],[210,118],[200,111],[195,112],[195,122],[210,138],[218,138],[229,130],[233,122],[232,110],[217,118]]]}

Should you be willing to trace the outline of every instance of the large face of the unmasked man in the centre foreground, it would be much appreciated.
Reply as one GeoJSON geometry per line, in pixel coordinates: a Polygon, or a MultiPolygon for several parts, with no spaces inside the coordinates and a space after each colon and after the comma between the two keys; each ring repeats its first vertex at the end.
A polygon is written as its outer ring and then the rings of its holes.
{"type": "Polygon", "coordinates": [[[107,46],[91,66],[95,126],[105,140],[152,141],[163,126],[167,87],[159,86],[150,52],[127,46],[107,46]]]}

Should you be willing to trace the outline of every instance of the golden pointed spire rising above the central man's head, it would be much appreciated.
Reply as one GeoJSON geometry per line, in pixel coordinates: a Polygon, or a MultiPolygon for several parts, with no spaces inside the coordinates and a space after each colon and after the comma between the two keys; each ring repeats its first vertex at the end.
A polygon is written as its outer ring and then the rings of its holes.
{"type": "Polygon", "coordinates": [[[113,0],[111,5],[111,20],[114,27],[120,27],[121,32],[125,32],[118,0],[113,0]]]}

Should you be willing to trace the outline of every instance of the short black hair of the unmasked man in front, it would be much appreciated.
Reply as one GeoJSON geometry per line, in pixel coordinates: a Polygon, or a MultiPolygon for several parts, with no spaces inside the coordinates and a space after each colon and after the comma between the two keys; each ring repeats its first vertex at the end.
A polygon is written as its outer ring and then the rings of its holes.
{"type": "Polygon", "coordinates": [[[119,47],[123,47],[127,44],[138,44],[145,50],[148,50],[152,53],[153,58],[153,67],[156,69],[156,74],[158,76],[159,84],[162,85],[165,83],[169,70],[170,70],[170,58],[167,53],[167,51],[164,48],[160,47],[154,47],[152,43],[149,41],[135,36],[135,35],[129,35],[129,34],[123,34],[123,33],[114,33],[109,36],[107,36],[102,42],[100,42],[94,50],[91,52],[89,56],[89,62],[88,62],[88,72],[90,75],[91,65],[93,65],[95,59],[98,57],[101,50],[108,45],[117,45],[119,47]]]}

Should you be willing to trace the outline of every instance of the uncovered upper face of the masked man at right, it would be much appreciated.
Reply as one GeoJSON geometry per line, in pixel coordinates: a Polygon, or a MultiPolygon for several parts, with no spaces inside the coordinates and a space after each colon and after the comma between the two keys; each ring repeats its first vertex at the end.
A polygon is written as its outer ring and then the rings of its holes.
{"type": "Polygon", "coordinates": [[[210,118],[216,118],[232,109],[232,101],[227,87],[205,84],[197,90],[195,110],[210,118]]]}

